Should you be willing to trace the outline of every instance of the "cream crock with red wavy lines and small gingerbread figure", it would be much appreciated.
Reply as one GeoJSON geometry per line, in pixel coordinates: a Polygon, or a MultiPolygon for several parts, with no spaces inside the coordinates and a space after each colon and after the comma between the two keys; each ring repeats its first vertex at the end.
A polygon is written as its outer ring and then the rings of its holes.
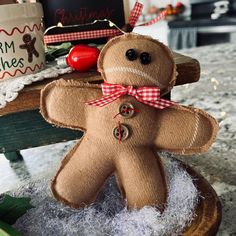
{"type": "Polygon", "coordinates": [[[0,80],[44,67],[42,17],[40,3],[0,5],[0,80]]]}

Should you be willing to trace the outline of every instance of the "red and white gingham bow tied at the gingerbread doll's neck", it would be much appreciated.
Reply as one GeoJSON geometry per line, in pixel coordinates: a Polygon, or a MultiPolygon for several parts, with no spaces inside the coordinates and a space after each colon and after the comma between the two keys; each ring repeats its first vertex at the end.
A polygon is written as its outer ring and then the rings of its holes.
{"type": "Polygon", "coordinates": [[[158,109],[164,109],[176,104],[173,101],[162,99],[159,87],[139,87],[136,89],[133,86],[125,87],[120,84],[103,83],[102,93],[103,97],[101,99],[88,101],[85,104],[103,107],[124,95],[133,96],[139,102],[158,109]]]}

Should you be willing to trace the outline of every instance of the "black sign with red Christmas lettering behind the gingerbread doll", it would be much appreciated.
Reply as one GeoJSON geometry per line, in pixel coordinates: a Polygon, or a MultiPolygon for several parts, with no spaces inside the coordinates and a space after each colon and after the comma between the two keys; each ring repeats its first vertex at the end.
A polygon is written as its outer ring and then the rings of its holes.
{"type": "MultiPolygon", "coordinates": [[[[102,34],[101,30],[110,30],[109,23],[91,23],[95,20],[108,19],[114,22],[118,27],[122,28],[125,23],[127,23],[130,14],[128,1],[126,0],[40,0],[40,2],[43,5],[45,15],[45,28],[56,26],[58,23],[61,23],[63,26],[67,26],[51,28],[50,31],[47,32],[47,36],[56,35],[55,37],[57,37],[58,40],[46,39],[46,43],[51,43],[51,41],[66,41],[66,39],[61,39],[61,35],[70,33],[78,33],[78,35],[76,35],[74,37],[76,39],[73,40],[69,37],[69,39],[71,39],[69,41],[79,40],[81,43],[82,40],[83,43],[99,43],[97,38],[102,37],[98,37],[98,34],[102,34]],[[95,31],[96,35],[94,34],[95,31]],[[58,37],[58,35],[60,36],[58,37]],[[96,38],[96,41],[94,41],[94,38],[96,38]]],[[[109,35],[109,33],[107,35],[109,35]]],[[[76,43],[77,42],[75,42],[75,44],[76,43]]],[[[100,43],[105,42],[102,41],[100,43]]]]}

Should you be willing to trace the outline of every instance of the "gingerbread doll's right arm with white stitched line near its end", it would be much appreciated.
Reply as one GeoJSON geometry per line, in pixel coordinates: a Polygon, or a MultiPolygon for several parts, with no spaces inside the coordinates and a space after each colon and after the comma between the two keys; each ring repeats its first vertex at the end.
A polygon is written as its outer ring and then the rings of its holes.
{"type": "Polygon", "coordinates": [[[216,120],[209,114],[180,105],[160,110],[157,124],[156,147],[182,155],[206,152],[218,131],[216,120]]]}

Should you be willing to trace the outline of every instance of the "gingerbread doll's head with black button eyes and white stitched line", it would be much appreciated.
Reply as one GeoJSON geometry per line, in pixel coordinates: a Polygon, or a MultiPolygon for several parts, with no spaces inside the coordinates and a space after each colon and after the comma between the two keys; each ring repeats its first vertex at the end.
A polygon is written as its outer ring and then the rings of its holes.
{"type": "Polygon", "coordinates": [[[158,86],[162,94],[176,80],[176,66],[168,47],[138,34],[110,40],[100,54],[98,70],[108,83],[158,86]]]}

